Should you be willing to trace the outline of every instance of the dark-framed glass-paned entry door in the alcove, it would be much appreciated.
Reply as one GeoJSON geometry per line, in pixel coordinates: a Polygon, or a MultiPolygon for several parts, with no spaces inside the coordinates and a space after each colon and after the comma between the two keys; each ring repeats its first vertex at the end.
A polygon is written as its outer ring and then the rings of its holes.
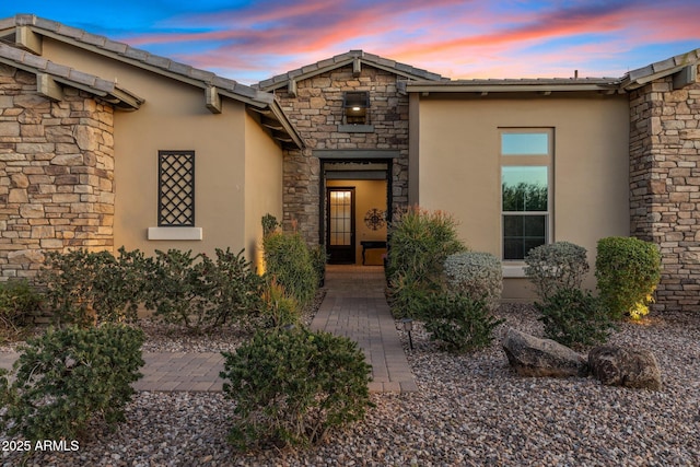
{"type": "Polygon", "coordinates": [[[327,188],[326,195],[328,261],[354,264],[354,188],[327,188]]]}

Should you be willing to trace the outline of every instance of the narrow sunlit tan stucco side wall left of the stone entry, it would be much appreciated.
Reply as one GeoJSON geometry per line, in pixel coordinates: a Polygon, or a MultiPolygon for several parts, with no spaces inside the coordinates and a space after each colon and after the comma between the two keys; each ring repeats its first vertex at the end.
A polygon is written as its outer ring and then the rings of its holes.
{"type": "Polygon", "coordinates": [[[282,149],[246,115],[245,124],[245,248],[261,270],[262,217],[282,220],[282,149]]]}

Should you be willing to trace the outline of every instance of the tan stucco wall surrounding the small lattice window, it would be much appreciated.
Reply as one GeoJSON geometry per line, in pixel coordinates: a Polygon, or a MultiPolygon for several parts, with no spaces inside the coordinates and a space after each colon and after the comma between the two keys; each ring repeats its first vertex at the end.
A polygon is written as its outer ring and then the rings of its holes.
{"type": "MultiPolygon", "coordinates": [[[[115,113],[115,247],[192,249],[248,248],[245,230],[245,106],[223,100],[223,113],[211,114],[205,91],[102,57],[44,40],[44,57],[81,71],[118,80],[145,103],[136,112],[115,113]],[[191,150],[196,155],[196,226],[202,241],[149,241],[158,225],[158,151],[191,150]]],[[[275,143],[270,142],[275,145],[275,143]]],[[[261,148],[259,141],[254,147],[261,148]]],[[[279,152],[279,150],[278,150],[279,152]]],[[[259,223],[259,222],[258,222],[259,223]]]]}

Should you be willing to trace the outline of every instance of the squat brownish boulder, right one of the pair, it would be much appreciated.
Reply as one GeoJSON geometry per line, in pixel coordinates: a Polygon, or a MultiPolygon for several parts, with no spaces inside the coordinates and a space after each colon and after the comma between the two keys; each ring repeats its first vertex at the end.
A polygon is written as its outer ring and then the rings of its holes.
{"type": "Polygon", "coordinates": [[[596,347],[588,352],[588,366],[605,385],[661,390],[661,370],[650,350],[596,347]]]}

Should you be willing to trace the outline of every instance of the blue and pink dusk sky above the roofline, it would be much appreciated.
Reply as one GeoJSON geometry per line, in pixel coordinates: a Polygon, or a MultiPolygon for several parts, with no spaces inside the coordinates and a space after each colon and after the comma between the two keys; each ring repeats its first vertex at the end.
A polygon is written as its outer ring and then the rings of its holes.
{"type": "Polygon", "coordinates": [[[453,79],[619,78],[700,48],[700,0],[0,0],[252,84],[351,49],[453,79]]]}

